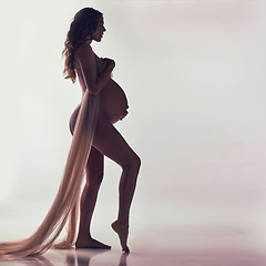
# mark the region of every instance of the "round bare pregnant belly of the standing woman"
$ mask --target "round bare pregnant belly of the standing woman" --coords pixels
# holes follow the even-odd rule
[[[101,92],[101,110],[111,123],[122,119],[129,108],[127,100],[122,88],[113,80],[109,80]]]

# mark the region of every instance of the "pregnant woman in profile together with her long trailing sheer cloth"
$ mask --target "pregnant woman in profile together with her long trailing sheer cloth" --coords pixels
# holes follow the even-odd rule
[[[0,243],[0,260],[38,255],[49,249],[68,225],[68,235],[55,248],[110,248],[94,238],[90,232],[98,192],[103,178],[103,157],[108,156],[122,167],[119,186],[119,214],[112,223],[122,250],[129,253],[127,235],[130,207],[141,165],[139,156],[113,126],[127,114],[127,101],[123,90],[112,80],[115,63],[101,59],[92,50],[92,41],[100,42],[105,31],[103,16],[98,10],[80,10],[70,25],[65,48],[64,74],[82,89],[81,104],[70,119],[73,134],[62,181],[45,218],[27,239]],[[86,183],[80,198],[84,172]],[[78,208],[80,226],[75,235]]]

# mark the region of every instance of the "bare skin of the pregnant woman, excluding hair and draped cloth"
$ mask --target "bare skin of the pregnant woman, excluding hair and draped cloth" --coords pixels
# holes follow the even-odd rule
[[[95,207],[99,188],[103,180],[103,162],[108,156],[122,167],[119,185],[119,214],[112,223],[112,228],[119,235],[122,250],[129,253],[127,235],[130,207],[134,195],[141,160],[130,147],[123,136],[114,127],[114,123],[127,114],[127,100],[123,90],[115,83],[111,75],[115,68],[112,59],[98,58],[91,48],[91,42],[101,42],[105,32],[103,17],[98,20],[95,32],[88,37],[74,54],[74,64],[82,92],[85,90],[93,95],[101,96],[100,113],[95,127],[91,153],[86,163],[86,184],[81,196],[80,226],[75,243],[76,248],[111,248],[91,235],[91,219]],[[98,69],[105,64],[99,74]],[[73,132],[80,105],[70,120]]]

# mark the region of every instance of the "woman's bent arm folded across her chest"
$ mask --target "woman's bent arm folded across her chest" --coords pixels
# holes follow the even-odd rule
[[[82,44],[76,51],[75,57],[86,89],[91,94],[98,95],[108,83],[108,80],[111,78],[111,73],[115,66],[114,61],[111,59],[104,59],[106,60],[106,68],[98,76],[95,54],[93,53],[90,44]]]

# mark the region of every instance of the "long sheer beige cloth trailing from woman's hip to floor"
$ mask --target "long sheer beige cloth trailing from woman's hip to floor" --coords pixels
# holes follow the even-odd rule
[[[90,155],[100,99],[85,92],[75,123],[62,181],[53,204],[35,233],[23,241],[0,243],[0,259],[18,259],[49,249],[69,221],[68,235],[55,248],[71,248],[75,241],[79,201],[84,168]]]

